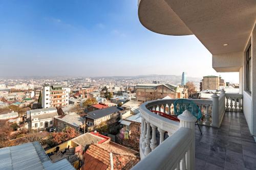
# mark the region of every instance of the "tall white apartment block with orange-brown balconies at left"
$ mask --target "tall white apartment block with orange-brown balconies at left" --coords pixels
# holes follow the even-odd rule
[[[42,108],[69,105],[70,88],[46,84],[42,88]]]

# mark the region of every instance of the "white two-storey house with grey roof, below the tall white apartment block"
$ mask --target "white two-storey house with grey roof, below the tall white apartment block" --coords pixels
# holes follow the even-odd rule
[[[27,111],[29,129],[45,129],[53,126],[53,117],[57,116],[56,108],[34,109]]]

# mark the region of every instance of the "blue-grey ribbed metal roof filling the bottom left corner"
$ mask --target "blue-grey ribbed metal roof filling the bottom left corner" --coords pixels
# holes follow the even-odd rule
[[[52,163],[39,142],[0,149],[0,169],[42,170],[75,169],[67,159]]]

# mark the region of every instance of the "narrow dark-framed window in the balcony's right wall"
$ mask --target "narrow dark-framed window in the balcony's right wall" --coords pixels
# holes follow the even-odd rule
[[[251,92],[251,45],[246,52],[246,90]]]

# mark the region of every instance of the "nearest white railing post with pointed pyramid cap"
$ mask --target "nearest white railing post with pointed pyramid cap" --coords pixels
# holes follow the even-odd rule
[[[189,147],[187,156],[187,169],[195,169],[195,122],[197,118],[193,116],[188,110],[185,110],[182,114],[178,115],[180,119],[180,127],[189,128],[193,133],[193,140]]]

